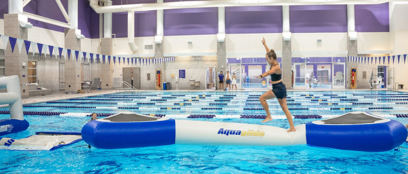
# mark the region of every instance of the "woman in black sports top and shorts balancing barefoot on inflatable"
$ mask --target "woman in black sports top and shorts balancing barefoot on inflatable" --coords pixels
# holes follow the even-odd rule
[[[288,105],[286,103],[286,86],[282,83],[282,70],[278,62],[276,61],[275,51],[273,49],[269,50],[265,42],[265,38],[263,38],[262,44],[265,46],[267,52],[266,61],[271,65],[271,68],[264,74],[255,76],[255,78],[260,78],[262,80],[262,78],[271,75],[273,89],[265,92],[259,97],[259,101],[261,101],[262,107],[266,111],[266,118],[262,122],[272,120],[271,113],[269,112],[269,106],[266,100],[271,98],[278,98],[279,104],[281,105],[282,110],[285,112],[286,118],[288,118],[289,125],[291,126],[288,132],[294,132],[296,131],[296,129],[293,125],[292,114],[291,112],[289,112]]]

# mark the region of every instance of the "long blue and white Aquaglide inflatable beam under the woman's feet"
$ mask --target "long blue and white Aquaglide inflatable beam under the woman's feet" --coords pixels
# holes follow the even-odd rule
[[[186,145],[288,146],[308,144],[341,150],[382,152],[408,136],[398,121],[367,112],[349,112],[295,127],[296,132],[255,124],[174,120],[131,112],[90,121],[85,142],[101,149]]]

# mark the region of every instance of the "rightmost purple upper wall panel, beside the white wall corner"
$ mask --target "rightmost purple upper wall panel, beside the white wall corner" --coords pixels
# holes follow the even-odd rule
[[[390,32],[388,3],[354,5],[357,32]]]

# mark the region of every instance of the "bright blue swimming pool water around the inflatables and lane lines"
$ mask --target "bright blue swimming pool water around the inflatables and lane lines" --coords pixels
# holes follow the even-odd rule
[[[82,113],[118,113],[120,111],[161,114],[165,117],[185,120],[262,124],[289,128],[287,120],[281,119],[284,114],[280,106],[276,105],[278,103],[276,99],[268,101],[271,114],[276,119],[262,123],[260,118],[249,118],[249,116],[265,115],[264,110],[254,110],[262,108],[261,105],[257,105],[259,101],[256,101],[256,97],[261,94],[263,92],[115,93],[98,97],[83,97],[76,100],[59,100],[53,103],[36,103],[31,104],[36,107],[23,107],[24,111],[66,112],[66,114],[65,116],[63,116],[64,114],[53,116],[24,115],[30,123],[30,127],[26,131],[5,137],[24,138],[40,131],[80,132],[82,126],[90,119],[89,116],[83,116]],[[191,99],[185,99],[188,97]],[[403,116],[407,113],[408,103],[404,104],[404,102],[408,102],[405,101],[408,100],[407,93],[390,91],[288,92],[288,100],[294,100],[288,101],[288,104],[292,103],[288,107],[291,108],[293,115],[330,117],[349,111],[368,111],[395,119],[403,124],[408,123],[408,118],[397,117],[397,115]],[[116,104],[112,104],[114,102]],[[184,104],[180,105],[180,103]],[[346,103],[351,103],[351,105]],[[67,108],[68,106],[74,107]],[[79,108],[85,106],[98,108]],[[119,107],[132,107],[132,109]],[[0,111],[4,110],[8,110],[8,108],[0,108]],[[187,118],[191,115],[197,117],[215,115],[215,117]],[[248,116],[248,118],[239,118],[242,115]],[[0,119],[6,118],[9,116],[0,114]],[[295,118],[294,124],[299,125],[314,120],[318,119]],[[55,151],[1,150],[3,158],[0,160],[0,173],[408,173],[407,148],[408,144],[404,143],[397,150],[381,153],[344,151],[307,145],[285,147],[169,145],[103,150],[88,148],[87,144],[81,141]]]

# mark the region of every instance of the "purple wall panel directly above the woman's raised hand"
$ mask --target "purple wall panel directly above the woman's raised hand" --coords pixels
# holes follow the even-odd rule
[[[282,6],[225,7],[225,33],[282,33]]]

